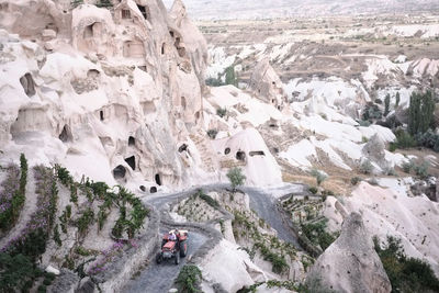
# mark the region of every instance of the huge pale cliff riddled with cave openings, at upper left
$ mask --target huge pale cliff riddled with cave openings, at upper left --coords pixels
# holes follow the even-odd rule
[[[90,3],[2,2],[0,161],[24,153],[109,183],[191,184],[201,162],[178,149],[203,119],[203,36],[181,1],[171,15],[156,0]]]

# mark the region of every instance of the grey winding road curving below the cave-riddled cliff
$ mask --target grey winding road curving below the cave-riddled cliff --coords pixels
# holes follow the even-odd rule
[[[222,191],[224,189],[229,189],[230,185],[226,183],[216,183],[216,184],[206,184],[200,187],[193,187],[184,191],[175,192],[175,193],[162,193],[156,195],[144,196],[142,200],[145,204],[153,205],[155,209],[159,211],[159,214],[166,214],[168,209],[167,204],[177,203],[182,199],[193,194],[199,189],[202,189],[206,192],[210,191]],[[305,188],[301,184],[291,184],[286,187],[281,187],[271,190],[262,190],[258,188],[245,187],[240,189],[246,192],[250,198],[250,207],[258,213],[258,216],[263,218],[271,227],[273,227],[278,232],[278,236],[280,239],[293,244],[295,247],[301,249],[296,236],[293,230],[289,227],[289,225],[282,219],[280,212],[278,211],[275,201],[277,196],[284,195],[289,193],[302,193]],[[272,194],[275,193],[277,196]],[[166,221],[165,221],[166,222]],[[166,226],[169,226],[169,223],[165,223],[164,218],[161,218],[160,232],[166,232]],[[182,224],[179,224],[182,225]],[[190,224],[188,224],[190,225]],[[209,224],[200,225],[204,226],[206,229],[214,229]],[[203,235],[202,232],[191,232],[189,235],[189,256],[187,258],[181,259],[179,266],[176,266],[173,261],[168,261],[161,264],[156,264],[154,259],[151,259],[151,263],[149,263],[148,268],[146,268],[139,277],[135,280],[131,281],[125,288],[125,292],[147,292],[147,293],[159,293],[159,292],[168,292],[171,289],[173,280],[178,277],[180,269],[187,263],[188,259],[191,256],[198,252],[198,250],[202,250],[203,245],[209,241],[209,236]],[[205,248],[204,248],[205,249]]]

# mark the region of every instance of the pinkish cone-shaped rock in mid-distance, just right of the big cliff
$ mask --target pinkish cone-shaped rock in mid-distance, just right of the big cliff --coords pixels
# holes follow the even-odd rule
[[[273,104],[278,110],[283,109],[286,94],[282,81],[271,67],[268,58],[260,60],[250,78],[250,89],[255,95],[267,103]]]

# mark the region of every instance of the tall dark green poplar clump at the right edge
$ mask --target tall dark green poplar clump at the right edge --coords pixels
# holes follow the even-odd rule
[[[434,123],[435,101],[431,91],[412,93],[408,108],[408,132],[412,135],[425,133]]]

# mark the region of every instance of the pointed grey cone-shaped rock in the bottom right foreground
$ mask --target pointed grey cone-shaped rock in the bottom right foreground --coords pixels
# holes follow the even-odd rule
[[[341,235],[317,259],[306,284],[319,292],[391,292],[383,264],[373,249],[360,214],[351,213],[342,225]]]

